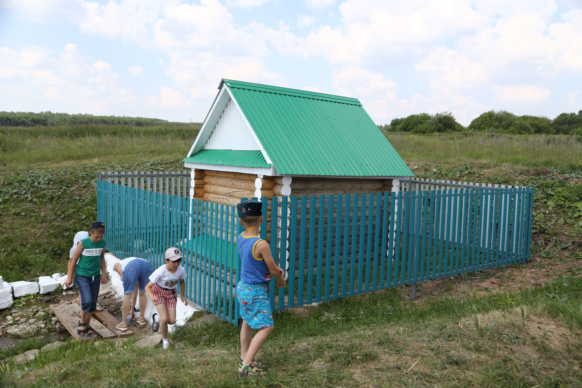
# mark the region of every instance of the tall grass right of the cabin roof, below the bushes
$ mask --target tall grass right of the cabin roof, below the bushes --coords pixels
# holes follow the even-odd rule
[[[491,133],[385,135],[405,160],[498,162],[558,169],[575,169],[582,165],[582,136]]]

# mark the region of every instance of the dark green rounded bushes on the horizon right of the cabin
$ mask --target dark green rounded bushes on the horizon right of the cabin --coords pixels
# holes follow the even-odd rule
[[[578,113],[560,113],[555,119],[514,115],[508,111],[489,111],[473,119],[464,127],[450,112],[417,113],[406,118],[392,119],[390,124],[378,125],[387,132],[443,133],[478,131],[508,134],[582,134],[582,110]]]

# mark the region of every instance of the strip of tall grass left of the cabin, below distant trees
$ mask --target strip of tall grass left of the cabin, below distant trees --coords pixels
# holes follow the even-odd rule
[[[198,127],[99,126],[0,127],[0,163],[38,166],[107,158],[130,160],[136,156],[186,156]]]

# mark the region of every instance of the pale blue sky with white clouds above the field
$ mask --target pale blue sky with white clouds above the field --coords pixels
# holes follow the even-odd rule
[[[0,111],[202,122],[221,79],[377,124],[582,109],[582,0],[0,0]]]

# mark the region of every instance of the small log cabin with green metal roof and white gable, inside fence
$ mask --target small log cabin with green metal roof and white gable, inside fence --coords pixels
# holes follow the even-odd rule
[[[221,81],[218,90],[184,159],[184,166],[191,169],[191,198],[236,205],[241,198],[252,197],[269,200],[274,196],[294,195],[359,194],[361,197],[361,194],[398,191],[399,180],[413,176],[355,98],[226,79]],[[307,197],[304,202],[307,218],[318,214],[319,198],[315,201],[315,212],[311,212],[311,198]],[[300,216],[300,200],[298,206]],[[372,230],[375,223],[382,222],[374,216],[375,209],[372,215],[367,208],[361,211],[366,213],[367,222],[373,223]],[[281,215],[281,209],[278,214]],[[327,217],[326,213],[325,220],[317,225],[327,229]],[[336,222],[333,218],[330,225],[335,227]],[[354,223],[356,228],[352,227]],[[286,252],[281,255],[285,264],[280,265],[297,276],[299,258],[304,261],[315,258],[308,255],[308,243],[301,246],[300,223],[297,222],[294,241],[290,241],[292,223],[287,225]],[[352,239],[353,230],[359,233],[359,228],[358,215],[353,215],[346,230],[342,221],[341,232],[348,234],[346,241],[350,247],[354,241],[356,252],[361,254],[360,238]],[[364,234],[367,230],[361,228]],[[307,223],[304,233],[309,232],[310,223]],[[270,233],[267,240],[277,244],[279,254],[280,225],[276,240]],[[335,240],[331,243],[335,245]],[[317,244],[328,242],[317,241],[316,237],[312,244],[317,252]],[[296,268],[289,268],[292,245],[297,256]],[[324,260],[327,260],[326,251],[322,252]],[[357,255],[348,256],[329,260],[333,264],[340,259],[343,265],[352,259],[359,260]]]

